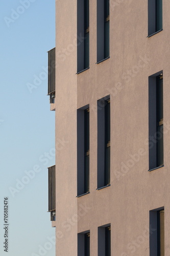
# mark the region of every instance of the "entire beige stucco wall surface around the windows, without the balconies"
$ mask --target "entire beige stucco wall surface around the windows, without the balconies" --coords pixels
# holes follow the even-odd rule
[[[110,58],[95,64],[96,0],[90,0],[90,69],[76,75],[77,1],[56,1],[56,145],[58,139],[65,141],[56,150],[56,234],[62,232],[62,238],[57,238],[56,255],[77,255],[77,233],[90,229],[90,255],[97,256],[98,226],[111,223],[112,256],[149,256],[149,210],[164,206],[168,256],[170,2],[163,1],[163,31],[150,38],[147,38],[147,1],[110,2]],[[64,48],[66,55],[61,57]],[[148,172],[148,76],[161,70],[167,129],[164,167]],[[111,186],[96,190],[96,101],[109,94]],[[77,109],[87,104],[90,105],[90,194],[76,198],[76,117]]]

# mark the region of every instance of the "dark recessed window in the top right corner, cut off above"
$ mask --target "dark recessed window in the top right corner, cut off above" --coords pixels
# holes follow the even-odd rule
[[[148,0],[148,35],[162,30],[162,0]]]

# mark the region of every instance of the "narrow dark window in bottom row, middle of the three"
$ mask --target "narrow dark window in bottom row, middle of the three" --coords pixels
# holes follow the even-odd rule
[[[98,256],[111,256],[110,224],[98,227]]]

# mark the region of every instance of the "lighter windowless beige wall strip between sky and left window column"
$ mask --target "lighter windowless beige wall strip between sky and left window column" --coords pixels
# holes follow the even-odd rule
[[[57,256],[77,255],[76,14],[76,1],[56,1]]]

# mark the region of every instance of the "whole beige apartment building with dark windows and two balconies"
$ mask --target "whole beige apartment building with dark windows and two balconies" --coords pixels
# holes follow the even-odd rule
[[[170,255],[170,2],[56,1],[56,256]]]

